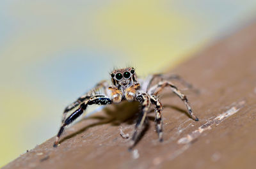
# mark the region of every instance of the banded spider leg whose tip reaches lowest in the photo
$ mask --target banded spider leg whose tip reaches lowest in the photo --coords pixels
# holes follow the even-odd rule
[[[134,145],[138,142],[138,138],[140,138],[141,132],[143,131],[143,124],[147,117],[148,109],[150,107],[150,98],[148,94],[139,94],[138,96],[136,96],[136,100],[141,103],[141,114],[138,121],[136,122],[134,133],[132,134],[131,147],[129,149],[132,149],[132,147],[134,147]]]

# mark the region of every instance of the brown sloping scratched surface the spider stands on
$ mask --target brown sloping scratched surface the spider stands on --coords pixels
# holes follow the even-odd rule
[[[214,44],[170,70],[200,90],[182,90],[200,121],[165,90],[163,143],[150,113],[147,132],[127,151],[119,129],[132,133],[138,107],[123,103],[68,128],[58,148],[50,138],[3,168],[256,168],[256,24]]]

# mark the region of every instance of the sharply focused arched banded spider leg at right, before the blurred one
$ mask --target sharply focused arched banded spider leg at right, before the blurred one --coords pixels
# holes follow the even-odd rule
[[[185,96],[184,94],[182,94],[179,89],[173,85],[171,82],[159,82],[159,84],[154,85],[153,87],[151,87],[148,91],[148,93],[150,95],[157,95],[157,93],[161,92],[164,87],[170,86],[171,90],[177,94],[177,96],[179,96],[179,98],[184,102],[184,104],[186,105],[187,109],[188,109],[188,113],[189,115],[192,117],[192,119],[194,119],[195,121],[199,121],[199,119],[194,115],[189,102],[188,102],[188,98],[187,96]]]

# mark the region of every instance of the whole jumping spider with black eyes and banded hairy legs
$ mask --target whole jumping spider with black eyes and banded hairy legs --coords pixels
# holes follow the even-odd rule
[[[119,70],[114,70],[110,73],[111,75],[111,82],[112,85],[109,87],[108,82],[102,81],[99,84],[95,86],[95,88],[92,89],[99,89],[102,88],[104,91],[104,94],[92,94],[92,91],[87,92],[80,98],[78,98],[74,103],[68,105],[68,107],[65,108],[63,112],[62,117],[62,125],[60,128],[60,131],[58,132],[58,135],[56,136],[56,141],[54,142],[54,147],[58,146],[59,139],[61,134],[64,131],[65,126],[72,123],[74,120],[77,119],[81,114],[83,114],[84,110],[86,110],[86,107],[88,105],[109,105],[111,103],[120,103],[122,100],[127,101],[138,101],[141,104],[141,114],[140,117],[136,123],[134,132],[132,134],[132,142],[131,147],[135,145],[135,143],[138,141],[138,138],[141,134],[141,128],[143,126],[143,123],[145,122],[145,119],[147,117],[148,110],[150,108],[150,105],[155,105],[155,112],[156,112],[156,131],[158,133],[159,141],[163,141],[163,129],[162,129],[162,118],[161,118],[161,112],[163,110],[163,107],[161,105],[161,102],[159,101],[159,98],[157,98],[157,94],[164,89],[164,87],[170,87],[172,92],[177,94],[179,98],[184,102],[186,107],[188,108],[188,113],[194,119],[195,121],[198,121],[198,118],[193,114],[191,107],[189,106],[187,97],[182,94],[175,85],[173,85],[171,82],[168,82],[166,80],[170,79],[177,79],[183,82],[188,87],[191,87],[190,84],[186,83],[184,80],[182,80],[178,76],[170,76],[170,77],[164,77],[162,74],[157,75],[151,75],[147,78],[147,80],[137,80],[137,76],[135,73],[134,68],[124,68]],[[155,78],[161,78],[161,81],[150,87],[153,80]],[[139,82],[141,81],[141,82]],[[78,107],[79,106],[79,107]],[[67,118],[67,112],[70,110],[77,108],[76,111],[74,111],[71,115],[69,115]]]

